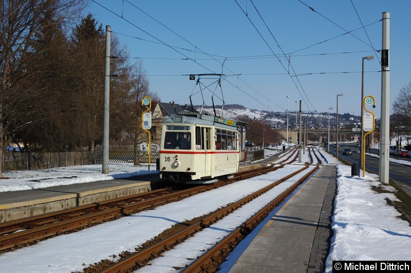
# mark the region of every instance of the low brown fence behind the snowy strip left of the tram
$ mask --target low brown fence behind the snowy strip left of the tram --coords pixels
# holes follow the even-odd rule
[[[109,149],[110,163],[134,163],[134,151]],[[139,151],[139,162],[148,163],[147,151]],[[150,163],[156,163],[159,152],[151,152]],[[102,150],[71,152],[4,152],[3,170],[36,170],[65,166],[102,164]]]

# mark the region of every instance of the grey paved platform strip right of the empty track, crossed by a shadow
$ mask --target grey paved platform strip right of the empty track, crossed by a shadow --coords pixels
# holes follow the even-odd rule
[[[275,211],[229,270],[323,272],[337,172],[322,166]]]

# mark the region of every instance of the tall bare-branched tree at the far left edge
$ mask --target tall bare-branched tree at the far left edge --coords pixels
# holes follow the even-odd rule
[[[40,52],[32,41],[41,31],[44,18],[52,16],[56,22],[68,22],[80,11],[82,0],[0,0],[0,150],[14,138],[19,124],[16,113],[21,113],[23,101],[35,100],[39,82],[25,81],[32,73],[27,63]],[[46,15],[47,13],[47,15]],[[23,111],[31,111],[30,108]],[[21,119],[23,121],[23,119]],[[2,154],[0,178],[3,178]]]

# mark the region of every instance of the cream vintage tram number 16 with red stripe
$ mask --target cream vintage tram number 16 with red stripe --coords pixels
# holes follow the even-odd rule
[[[212,183],[238,171],[240,133],[236,122],[180,112],[162,124],[160,178],[184,183]]]

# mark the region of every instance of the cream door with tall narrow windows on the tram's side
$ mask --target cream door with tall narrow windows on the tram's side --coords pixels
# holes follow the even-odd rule
[[[196,126],[196,150],[201,150],[196,165],[203,172],[201,177],[211,176],[211,128]]]

